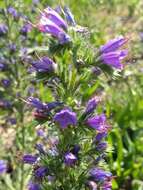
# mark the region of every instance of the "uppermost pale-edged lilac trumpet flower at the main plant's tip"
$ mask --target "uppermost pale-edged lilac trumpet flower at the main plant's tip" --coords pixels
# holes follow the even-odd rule
[[[46,9],[44,9],[42,15],[45,16],[50,21],[52,21],[58,27],[62,27],[64,29],[67,29],[66,22],[63,20],[63,18],[54,9],[47,7]]]

